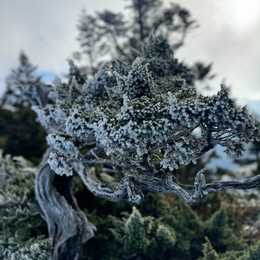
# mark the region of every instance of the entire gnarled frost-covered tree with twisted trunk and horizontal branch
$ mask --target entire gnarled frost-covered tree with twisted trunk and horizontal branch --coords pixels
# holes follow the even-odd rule
[[[70,61],[67,83],[24,86],[49,134],[35,191],[53,241],[52,259],[79,259],[95,231],[71,193],[75,175],[95,196],[137,204],[143,190],[177,194],[192,204],[207,193],[260,185],[259,176],[206,184],[205,169],[193,186],[174,176],[217,144],[239,159],[244,143],[260,137],[260,122],[238,109],[223,85],[203,96],[193,81],[166,39],[151,36],[132,66],[112,59],[86,79]],[[101,180],[98,165],[111,183]]]

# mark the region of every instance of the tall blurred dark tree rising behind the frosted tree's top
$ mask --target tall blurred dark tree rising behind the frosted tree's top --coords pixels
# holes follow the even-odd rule
[[[189,11],[177,4],[166,6],[160,0],[131,0],[127,4],[127,14],[104,10],[90,15],[82,11],[77,25],[81,50],[74,56],[88,61],[89,75],[94,75],[99,62],[109,56],[132,62],[141,54],[151,31],[163,34],[176,50],[187,32],[197,26]]]

